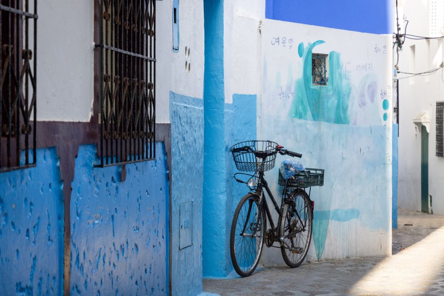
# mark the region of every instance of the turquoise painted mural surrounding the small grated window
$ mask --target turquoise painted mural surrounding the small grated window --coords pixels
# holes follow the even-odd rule
[[[313,48],[325,41],[318,40],[304,47],[298,45],[299,57],[304,61],[302,77],[296,80],[295,95],[290,110],[293,118],[349,124],[349,99],[352,91],[350,81],[341,66],[340,54],[331,51],[327,85],[312,85],[311,56]]]

